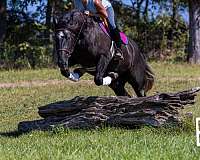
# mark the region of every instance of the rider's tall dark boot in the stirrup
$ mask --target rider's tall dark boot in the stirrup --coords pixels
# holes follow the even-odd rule
[[[121,41],[120,32],[119,32],[118,28],[115,28],[112,30],[112,36],[113,36],[113,40],[116,44],[115,59],[124,60],[123,52],[121,49],[122,41]]]

